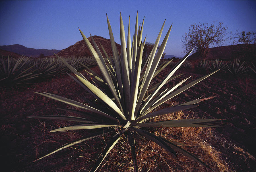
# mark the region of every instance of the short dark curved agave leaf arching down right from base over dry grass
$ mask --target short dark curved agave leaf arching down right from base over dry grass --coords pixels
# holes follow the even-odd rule
[[[167,152],[173,154],[174,156],[177,156],[176,152],[168,144],[166,144],[166,142],[164,142],[160,137],[158,137],[158,136],[156,136],[156,135],[154,135],[154,134],[152,134],[148,131],[138,129],[136,127],[129,127],[129,129],[138,132],[139,134],[141,134],[145,138],[155,142],[156,144],[158,144],[159,146],[164,148]]]

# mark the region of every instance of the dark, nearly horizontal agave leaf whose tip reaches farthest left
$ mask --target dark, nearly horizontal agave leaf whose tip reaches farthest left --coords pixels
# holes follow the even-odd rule
[[[65,115],[44,115],[44,116],[29,116],[27,118],[35,118],[35,119],[59,119],[65,121],[75,121],[81,123],[96,123],[95,121],[89,121],[89,119],[74,117],[74,116],[65,116]]]

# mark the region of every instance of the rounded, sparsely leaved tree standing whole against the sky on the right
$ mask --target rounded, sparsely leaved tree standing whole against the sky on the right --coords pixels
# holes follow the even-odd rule
[[[217,22],[217,21],[215,21]],[[194,48],[194,51],[199,52],[202,59],[207,57],[207,49],[213,45],[222,45],[227,39],[225,36],[227,27],[222,26],[222,22],[218,24],[199,23],[191,24],[189,32],[182,36],[182,47],[185,49],[185,53]]]

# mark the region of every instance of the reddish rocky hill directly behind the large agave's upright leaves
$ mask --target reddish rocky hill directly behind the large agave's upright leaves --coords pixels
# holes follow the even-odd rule
[[[104,52],[103,52],[100,44],[105,49],[105,51],[107,52],[108,55],[113,55],[112,54],[111,43],[110,43],[109,39],[103,38],[101,36],[96,36],[96,35],[92,36],[92,38],[94,39],[94,41],[98,45],[98,47],[99,47],[103,56],[104,56]],[[88,37],[88,40],[90,41],[90,43],[94,47],[94,44],[92,42],[92,38]],[[117,49],[118,49],[119,53],[121,53],[121,45],[119,45],[118,43],[115,43],[115,44],[117,46]],[[67,47],[66,49],[61,50],[59,53],[57,53],[57,55],[62,56],[62,57],[67,57],[67,56],[71,56],[71,55],[92,56],[92,54],[90,53],[90,51],[89,51],[87,45],[85,44],[84,40],[81,40],[81,41],[75,43],[74,45],[71,45],[71,46]]]

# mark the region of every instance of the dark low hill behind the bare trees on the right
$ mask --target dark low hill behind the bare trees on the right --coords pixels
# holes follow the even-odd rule
[[[252,45],[254,47],[254,52],[256,52],[256,45]],[[235,59],[239,57],[243,57],[245,45],[226,45],[220,47],[213,47],[208,49],[207,59]],[[190,60],[201,59],[201,56],[198,52],[193,53],[188,57]]]

